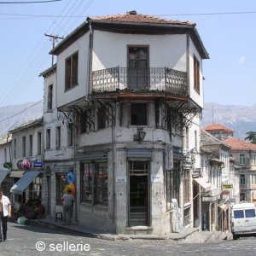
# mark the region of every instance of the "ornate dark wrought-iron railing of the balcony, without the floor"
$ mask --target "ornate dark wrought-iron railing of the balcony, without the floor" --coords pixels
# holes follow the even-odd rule
[[[162,91],[186,96],[187,73],[167,67],[112,67],[92,73],[92,93],[117,90]]]

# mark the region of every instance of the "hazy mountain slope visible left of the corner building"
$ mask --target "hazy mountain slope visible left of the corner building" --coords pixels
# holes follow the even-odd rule
[[[43,113],[43,101],[0,107],[0,136],[30,120],[41,118]]]

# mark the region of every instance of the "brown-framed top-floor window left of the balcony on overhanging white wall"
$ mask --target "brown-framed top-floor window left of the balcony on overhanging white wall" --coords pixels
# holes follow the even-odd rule
[[[66,60],[65,90],[69,90],[78,84],[79,53],[75,53]]]

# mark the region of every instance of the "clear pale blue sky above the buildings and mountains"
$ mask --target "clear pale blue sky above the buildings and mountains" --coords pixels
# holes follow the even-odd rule
[[[196,23],[210,55],[210,59],[204,60],[202,65],[204,102],[245,106],[256,104],[256,1],[5,2],[9,3],[0,0],[0,107],[43,100],[44,79],[39,74],[51,67],[52,61],[49,55],[52,42],[45,33],[66,37],[88,16],[125,14],[130,10]]]

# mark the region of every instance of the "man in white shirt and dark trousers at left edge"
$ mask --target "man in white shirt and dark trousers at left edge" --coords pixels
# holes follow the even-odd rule
[[[0,189],[0,216],[3,228],[3,241],[6,241],[7,220],[11,217],[11,204],[9,198],[3,195],[3,189]],[[2,241],[2,232],[0,232],[0,241]]]

